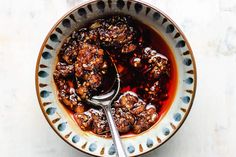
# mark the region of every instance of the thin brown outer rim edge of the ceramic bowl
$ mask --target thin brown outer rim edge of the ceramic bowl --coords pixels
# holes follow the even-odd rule
[[[93,155],[93,156],[97,156],[97,155],[94,155],[92,153],[88,153],[86,152],[85,150],[83,149],[79,149],[78,147],[72,145],[69,141],[67,141],[62,135],[60,135],[58,133],[58,131],[56,130],[56,128],[53,127],[53,124],[52,122],[49,120],[48,116],[46,115],[46,112],[44,110],[44,106],[43,106],[43,103],[41,101],[41,98],[40,98],[40,93],[39,93],[39,86],[38,86],[38,70],[39,70],[39,63],[40,63],[40,59],[41,59],[41,56],[42,56],[42,53],[43,53],[43,49],[51,35],[51,33],[55,30],[55,28],[62,22],[62,20],[67,17],[70,13],[74,12],[76,9],[80,8],[80,7],[84,7],[90,3],[94,3],[96,2],[97,0],[87,0],[85,2],[81,2],[79,4],[76,4],[74,7],[72,7],[70,10],[68,10],[65,14],[63,14],[62,17],[60,17],[57,22],[51,27],[50,31],[47,33],[46,37],[44,38],[44,41],[41,45],[41,48],[40,48],[40,51],[39,51],[39,54],[38,54],[38,57],[37,57],[37,61],[36,61],[36,68],[35,68],[35,87],[36,87],[36,95],[37,95],[37,99],[38,99],[38,102],[39,102],[39,106],[40,106],[40,109],[44,115],[44,117],[46,118],[48,124],[50,125],[50,127],[54,130],[54,132],[64,141],[66,142],[67,144],[69,144],[70,146],[72,146],[73,148],[75,148],[76,150],[79,150],[85,154],[88,154],[88,155]],[[106,1],[106,0],[105,0]],[[124,1],[129,1],[129,0],[124,0]],[[181,128],[181,126],[183,125],[183,123],[185,122],[186,118],[188,117],[189,113],[190,113],[190,110],[192,109],[192,106],[193,106],[193,102],[194,102],[194,99],[195,99],[195,94],[196,94],[196,90],[197,90],[197,68],[196,68],[196,62],[195,62],[195,58],[194,58],[194,55],[193,55],[193,51],[192,51],[192,48],[190,46],[190,43],[189,41],[187,40],[186,36],[184,35],[183,31],[180,29],[180,27],[174,22],[174,20],[172,20],[172,18],[170,18],[165,12],[163,12],[161,9],[157,8],[156,6],[148,3],[148,2],[145,2],[143,0],[132,0],[133,2],[135,3],[141,3],[145,6],[148,6],[156,11],[158,11],[160,14],[162,14],[165,18],[167,18],[174,26],[175,28],[178,30],[178,32],[181,34],[181,36],[183,37],[187,47],[188,47],[188,50],[189,50],[189,54],[191,56],[191,59],[192,59],[192,64],[193,64],[193,76],[194,76],[194,82],[193,82],[193,93],[192,93],[192,98],[190,100],[190,103],[189,103],[189,107],[188,107],[188,110],[186,111],[186,113],[184,114],[182,120],[180,121],[179,125],[176,126],[176,129],[173,130],[172,134],[170,136],[168,136],[165,141],[163,141],[162,143],[160,143],[159,145],[157,145],[156,147],[153,147],[151,149],[149,149],[148,151],[146,152],[141,152],[138,156],[141,156],[141,155],[144,155],[144,154],[147,154],[147,153],[150,153],[152,152],[153,150],[161,147],[163,144],[165,144],[167,141],[169,141],[171,139],[172,136],[174,136],[176,134],[176,132]],[[99,156],[98,156],[99,157]]]

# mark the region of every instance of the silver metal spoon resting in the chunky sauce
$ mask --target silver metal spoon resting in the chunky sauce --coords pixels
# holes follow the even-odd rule
[[[103,108],[110,127],[112,139],[117,150],[117,155],[118,157],[126,157],[127,155],[121,143],[120,135],[116,128],[116,124],[114,122],[111,113],[111,104],[120,91],[120,76],[118,74],[115,64],[112,63],[112,65],[114,66],[113,70],[115,70],[116,72],[116,80],[115,83],[113,84],[113,87],[114,85],[116,85],[116,88],[111,88],[111,90],[106,92],[105,94],[93,96],[92,98],[87,99],[87,102],[89,102],[92,105],[101,106]]]

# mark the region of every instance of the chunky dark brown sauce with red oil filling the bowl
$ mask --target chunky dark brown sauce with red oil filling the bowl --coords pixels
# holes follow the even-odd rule
[[[122,135],[139,134],[168,110],[177,79],[170,48],[158,33],[130,16],[94,20],[64,41],[54,71],[58,99],[82,130],[111,136],[103,110],[86,103],[112,85],[108,57],[121,78],[112,106],[117,129]]]

